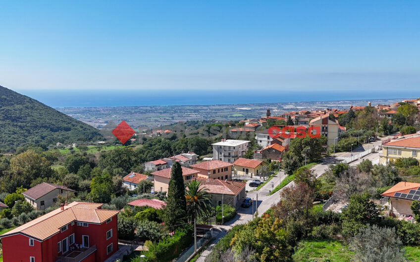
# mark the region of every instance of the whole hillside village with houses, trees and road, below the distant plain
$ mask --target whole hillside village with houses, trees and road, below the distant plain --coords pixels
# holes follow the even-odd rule
[[[362,252],[357,241],[373,234],[392,238],[389,258],[412,260],[420,253],[419,109],[420,99],[277,116],[267,109],[262,118],[215,121],[214,137],[156,130],[95,154],[83,144],[68,153],[58,143],[26,145],[0,157],[2,258],[350,261]],[[339,248],[306,250],[319,242]]]

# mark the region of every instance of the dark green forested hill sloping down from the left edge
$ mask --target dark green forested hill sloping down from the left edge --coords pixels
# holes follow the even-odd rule
[[[48,145],[102,138],[96,128],[0,86],[1,152],[9,152],[26,144],[45,142]]]

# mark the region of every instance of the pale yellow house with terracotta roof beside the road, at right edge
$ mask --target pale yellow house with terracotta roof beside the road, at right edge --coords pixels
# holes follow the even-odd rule
[[[379,163],[386,164],[398,158],[413,157],[420,161],[420,134],[410,134],[382,145]]]

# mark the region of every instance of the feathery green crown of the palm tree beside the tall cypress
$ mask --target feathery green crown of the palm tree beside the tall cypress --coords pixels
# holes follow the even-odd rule
[[[201,181],[192,180],[186,184],[185,199],[187,200],[187,214],[194,221],[195,218],[205,218],[210,215],[211,194],[206,187],[201,187]]]

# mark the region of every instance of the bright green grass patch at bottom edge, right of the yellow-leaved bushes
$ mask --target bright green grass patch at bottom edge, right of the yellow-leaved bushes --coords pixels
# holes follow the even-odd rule
[[[293,261],[350,261],[354,256],[347,246],[333,239],[305,239],[298,243]]]

